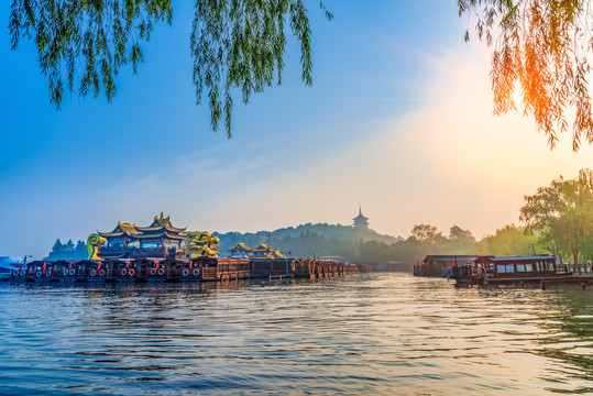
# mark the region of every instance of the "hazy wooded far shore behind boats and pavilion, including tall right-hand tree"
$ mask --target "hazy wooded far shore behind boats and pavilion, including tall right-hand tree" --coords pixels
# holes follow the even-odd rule
[[[560,176],[548,187],[525,196],[520,224],[507,224],[476,240],[469,230],[452,226],[446,235],[436,226],[416,224],[406,239],[340,224],[301,224],[255,233],[213,233],[221,253],[243,242],[290,252],[292,257],[341,256],[364,264],[399,262],[411,267],[428,254],[531,255],[558,254],[562,262],[593,260],[593,170],[574,179]],[[84,260],[86,244],[57,240],[46,260]]]

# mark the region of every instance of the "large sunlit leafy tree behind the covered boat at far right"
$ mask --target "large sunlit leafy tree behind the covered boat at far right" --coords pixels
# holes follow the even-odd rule
[[[520,220],[526,231],[553,241],[562,252],[579,262],[579,254],[591,256],[593,244],[593,170],[581,169],[575,179],[562,176],[549,187],[525,197]]]

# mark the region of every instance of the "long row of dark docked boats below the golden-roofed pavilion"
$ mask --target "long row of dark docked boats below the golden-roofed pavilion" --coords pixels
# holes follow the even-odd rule
[[[308,258],[273,260],[205,256],[34,261],[11,272],[13,282],[174,282],[288,276],[321,278],[358,273],[356,264]]]

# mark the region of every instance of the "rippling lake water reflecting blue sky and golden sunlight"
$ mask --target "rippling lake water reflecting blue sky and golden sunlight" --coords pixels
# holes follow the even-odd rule
[[[593,394],[593,288],[0,284],[2,395]]]

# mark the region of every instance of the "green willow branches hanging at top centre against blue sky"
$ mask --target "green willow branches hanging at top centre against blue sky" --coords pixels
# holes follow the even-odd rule
[[[325,9],[326,16],[332,15]],[[208,89],[212,129],[224,112],[231,133],[232,89],[241,89],[243,102],[274,81],[282,84],[285,23],[300,42],[303,80],[311,80],[311,37],[303,0],[198,0],[191,29],[196,100]]]

